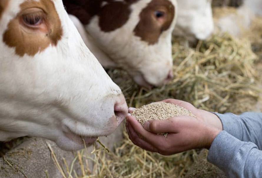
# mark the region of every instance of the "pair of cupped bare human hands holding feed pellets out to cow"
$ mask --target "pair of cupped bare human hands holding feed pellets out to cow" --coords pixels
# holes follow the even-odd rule
[[[190,149],[209,148],[222,131],[220,119],[213,113],[196,109],[193,105],[175,99],[162,102],[177,104],[190,110],[197,118],[173,117],[167,120],[151,120],[144,127],[133,116],[127,117],[127,132],[137,146],[163,155],[176,154]],[[132,108],[130,112],[132,112]],[[168,133],[167,138],[159,133]]]

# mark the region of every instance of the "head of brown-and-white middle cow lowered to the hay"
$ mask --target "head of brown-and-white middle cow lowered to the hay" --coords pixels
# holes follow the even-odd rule
[[[138,84],[146,87],[160,86],[173,78],[171,37],[176,0],[63,2],[67,12],[84,25],[87,32],[72,17],[87,46],[104,67],[125,69]],[[105,54],[101,55],[99,49]]]

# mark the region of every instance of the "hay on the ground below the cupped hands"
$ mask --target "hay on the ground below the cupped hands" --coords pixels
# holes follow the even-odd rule
[[[52,148],[52,158],[64,178],[175,178],[186,174],[198,155],[195,150],[165,157],[157,153],[147,152],[135,146],[129,139],[127,132],[124,132],[124,139],[115,149],[115,152],[107,152],[95,146],[93,157],[77,152],[76,158],[71,164],[78,164],[80,175],[73,174],[69,170],[66,161],[59,164],[55,158]],[[98,149],[98,150],[97,150]],[[94,168],[89,170],[89,164]]]

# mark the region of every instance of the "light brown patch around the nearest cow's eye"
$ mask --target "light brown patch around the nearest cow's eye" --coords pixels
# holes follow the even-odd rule
[[[61,21],[51,0],[25,1],[21,11],[8,24],[3,41],[16,54],[34,56],[62,37]]]

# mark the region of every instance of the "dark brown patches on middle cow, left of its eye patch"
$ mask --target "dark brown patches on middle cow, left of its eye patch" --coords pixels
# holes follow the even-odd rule
[[[131,14],[130,5],[140,0],[63,0],[67,12],[76,16],[84,25],[92,17],[99,17],[100,29],[104,32],[114,31],[123,26]],[[103,5],[102,3],[106,3]]]

